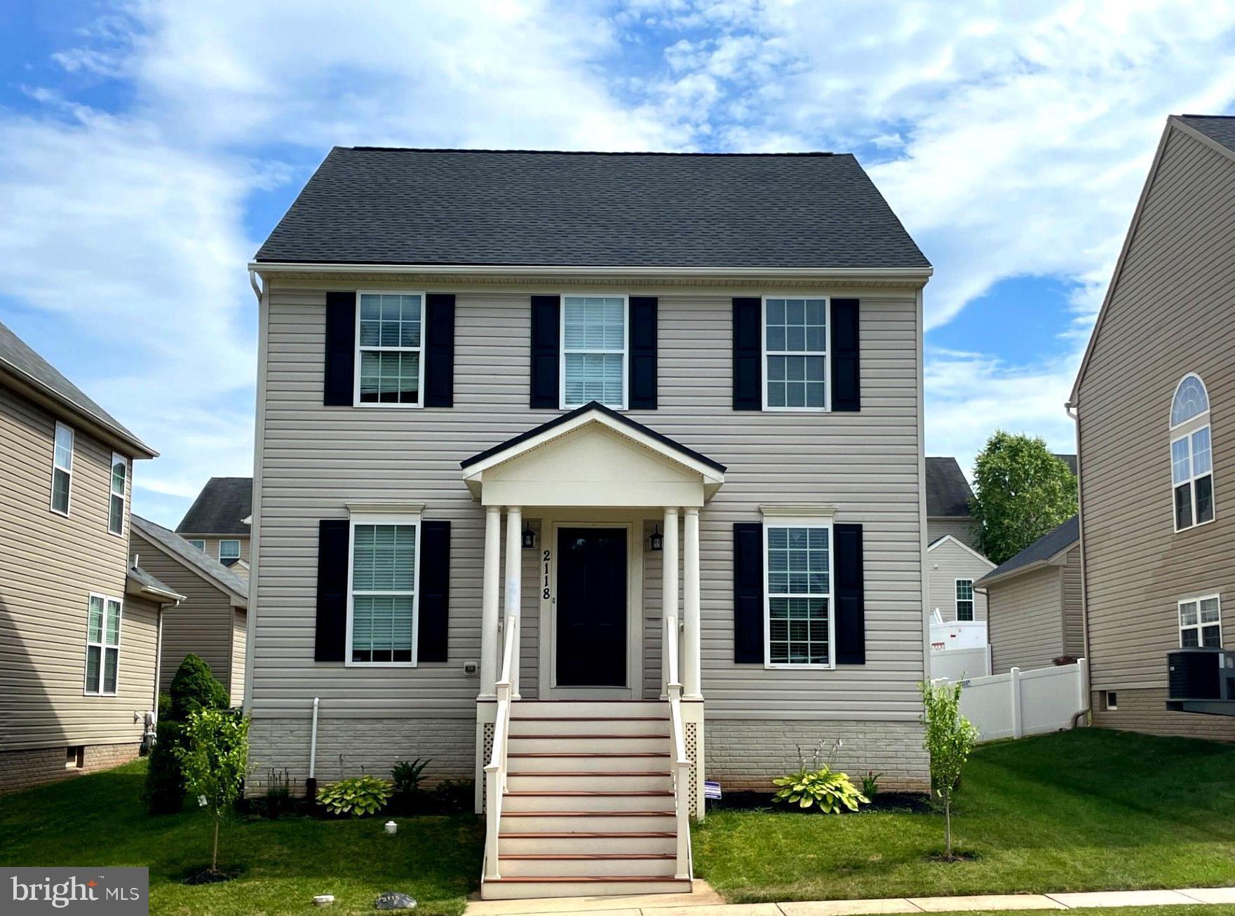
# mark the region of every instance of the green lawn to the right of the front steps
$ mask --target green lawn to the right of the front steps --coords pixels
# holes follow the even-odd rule
[[[1233,885],[1235,747],[1097,728],[988,744],[952,825],[976,860],[926,859],[939,814],[722,810],[694,831],[695,874],[731,902]]]

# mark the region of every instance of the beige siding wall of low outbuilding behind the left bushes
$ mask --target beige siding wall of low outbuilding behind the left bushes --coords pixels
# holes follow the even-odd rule
[[[200,657],[224,686],[232,672],[232,604],[227,593],[173,559],[137,531],[133,553],[146,572],[184,600],[163,618],[163,664],[159,689],[167,690],[177,669],[190,652]],[[238,697],[232,695],[232,700]]]

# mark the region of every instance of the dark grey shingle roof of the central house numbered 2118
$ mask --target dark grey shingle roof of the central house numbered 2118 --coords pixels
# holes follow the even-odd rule
[[[258,262],[923,268],[853,156],[335,147]]]

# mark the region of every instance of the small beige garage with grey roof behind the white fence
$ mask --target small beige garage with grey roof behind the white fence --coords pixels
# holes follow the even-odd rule
[[[1084,654],[1078,532],[1072,516],[974,583],[987,596],[992,674]]]

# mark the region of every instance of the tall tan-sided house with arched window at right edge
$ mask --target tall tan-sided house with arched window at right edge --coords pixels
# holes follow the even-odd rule
[[[1172,116],[1070,401],[1099,726],[1235,739],[1166,709],[1170,651],[1235,647],[1233,249],[1235,119]]]

